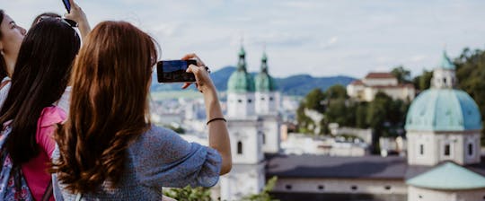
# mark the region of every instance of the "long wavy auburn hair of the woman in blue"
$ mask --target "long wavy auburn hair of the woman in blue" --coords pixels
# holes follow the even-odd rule
[[[60,182],[73,193],[116,188],[130,141],[149,127],[154,40],[128,22],[101,22],[75,61],[70,115],[57,129]]]

